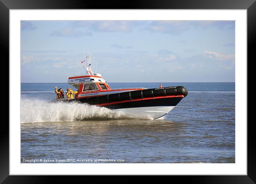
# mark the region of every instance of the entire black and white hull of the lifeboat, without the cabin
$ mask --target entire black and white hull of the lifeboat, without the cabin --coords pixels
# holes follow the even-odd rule
[[[55,99],[52,102],[79,102],[123,111],[133,117],[157,119],[171,111],[188,91],[183,86],[136,90],[77,99]]]

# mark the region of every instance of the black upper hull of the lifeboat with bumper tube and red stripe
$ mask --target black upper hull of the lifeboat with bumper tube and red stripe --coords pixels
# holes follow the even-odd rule
[[[63,102],[80,102],[91,105],[100,105],[109,109],[154,107],[154,106],[176,106],[188,91],[183,86],[154,88],[147,90],[135,90],[122,93],[113,93],[95,97],[83,97],[78,99],[61,100]],[[164,97],[164,96],[167,96]],[[177,96],[178,95],[178,96]],[[170,97],[172,96],[172,97]],[[155,98],[154,98],[155,97]],[[135,100],[141,99],[141,100]],[[60,99],[59,99],[60,100]],[[53,100],[51,102],[60,102]],[[109,104],[112,103],[112,104]]]

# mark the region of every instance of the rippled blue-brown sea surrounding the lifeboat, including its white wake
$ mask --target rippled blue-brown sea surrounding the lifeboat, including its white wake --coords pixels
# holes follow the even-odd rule
[[[75,90],[68,83],[21,83],[21,163],[235,163],[234,82],[162,83],[184,86],[188,95],[156,120],[48,103],[56,98],[55,86]]]

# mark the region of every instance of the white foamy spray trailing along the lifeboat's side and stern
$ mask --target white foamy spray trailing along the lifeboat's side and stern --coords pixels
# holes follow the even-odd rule
[[[21,123],[86,121],[110,119],[152,119],[135,117],[121,111],[112,111],[104,107],[85,103],[50,103],[39,99],[21,99]]]

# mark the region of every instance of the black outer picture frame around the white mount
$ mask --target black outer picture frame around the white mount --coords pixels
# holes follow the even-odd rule
[[[99,3],[100,2],[100,3]],[[247,10],[247,63],[253,57],[256,38],[256,1],[255,0],[130,0],[88,1],[88,0],[0,0],[0,44],[2,57],[9,61],[9,10],[10,9],[246,9]],[[249,77],[248,77],[249,79]],[[248,82],[247,82],[248,84]],[[9,84],[10,85],[10,84]],[[246,99],[247,101],[247,99]],[[10,102],[10,99],[9,99]],[[7,108],[6,108],[7,109]],[[10,114],[10,112],[9,112]],[[243,122],[247,123],[247,122]],[[172,176],[189,183],[255,183],[255,128],[253,121],[247,123],[247,175],[197,175]],[[1,129],[0,182],[3,183],[51,183],[50,176],[9,175],[9,126],[2,124]],[[58,183],[67,176],[58,178]],[[86,176],[85,176],[86,177]],[[151,177],[150,177],[151,178]],[[129,179],[124,180],[128,182]],[[130,181],[129,183],[131,183]]]

